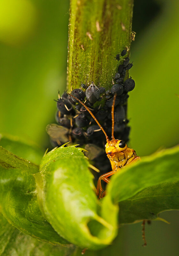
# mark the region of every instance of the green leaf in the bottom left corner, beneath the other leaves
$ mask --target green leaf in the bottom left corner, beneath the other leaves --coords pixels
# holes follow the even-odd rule
[[[40,242],[21,233],[0,214],[0,256],[67,256],[75,247]]]

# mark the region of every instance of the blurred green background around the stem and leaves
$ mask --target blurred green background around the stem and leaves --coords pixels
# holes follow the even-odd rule
[[[0,6],[0,132],[45,150],[45,127],[55,121],[53,99],[66,87],[69,1],[0,0]],[[130,146],[144,156],[179,143],[179,2],[134,1],[132,29]],[[114,245],[92,254],[179,255],[179,212],[161,217],[171,224],[147,226],[147,247],[141,246],[138,223],[121,228]]]

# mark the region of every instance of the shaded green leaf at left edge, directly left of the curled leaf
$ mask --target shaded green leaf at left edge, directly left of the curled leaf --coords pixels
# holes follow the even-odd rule
[[[22,232],[51,243],[67,243],[42,216],[34,173],[39,166],[0,147],[0,208]]]

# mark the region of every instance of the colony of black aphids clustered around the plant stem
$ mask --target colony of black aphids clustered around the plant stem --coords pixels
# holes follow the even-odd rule
[[[126,79],[126,70],[132,67],[128,56],[125,59],[120,59],[120,56],[127,54],[123,50],[116,55],[116,60],[120,61],[117,67],[117,73],[114,75],[113,84],[109,85],[110,90],[104,87],[99,87],[91,82],[90,84],[81,83],[80,88],[76,88],[71,92],[71,95],[85,102],[86,106],[91,110],[96,119],[100,122],[108,137],[111,136],[111,107],[113,97],[116,94],[115,109],[114,109],[114,132],[115,137],[127,142],[129,140],[130,127],[128,126],[127,99],[128,92],[135,87],[133,79]],[[124,58],[124,57],[123,57]],[[92,116],[88,113],[78,100],[74,99],[66,92],[62,97],[58,97],[56,101],[57,124],[48,124],[46,131],[50,136],[51,144],[61,146],[62,144],[71,141],[77,143],[80,147],[88,150],[86,156],[93,160],[93,165],[100,169],[101,172],[109,172],[111,170],[110,163],[105,153],[106,138],[100,127],[96,124]],[[100,102],[102,104],[100,104]]]

